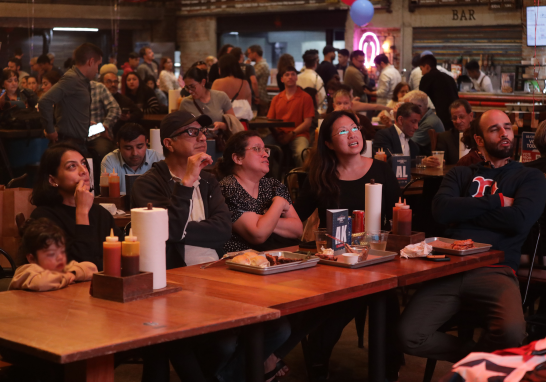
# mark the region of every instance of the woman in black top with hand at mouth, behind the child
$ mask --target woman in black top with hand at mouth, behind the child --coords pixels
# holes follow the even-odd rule
[[[42,156],[31,203],[31,218],[48,218],[67,238],[68,261],[90,261],[102,270],[102,243],[110,230],[123,240],[112,215],[93,204],[89,165],[80,149],[69,143],[49,147]]]

